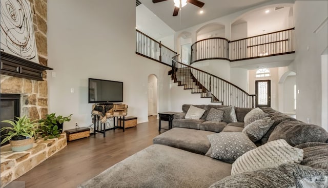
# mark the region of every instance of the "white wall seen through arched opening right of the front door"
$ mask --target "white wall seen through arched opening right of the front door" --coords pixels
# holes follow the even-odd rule
[[[283,111],[282,111],[283,113],[295,114],[295,110],[294,110],[295,84],[296,84],[296,76],[288,76],[283,82]]]

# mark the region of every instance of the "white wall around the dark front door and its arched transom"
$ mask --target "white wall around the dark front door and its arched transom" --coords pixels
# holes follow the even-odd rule
[[[278,110],[278,68],[269,68],[271,76],[256,77],[257,70],[249,70],[249,93],[255,94],[256,80],[271,80],[271,107]]]

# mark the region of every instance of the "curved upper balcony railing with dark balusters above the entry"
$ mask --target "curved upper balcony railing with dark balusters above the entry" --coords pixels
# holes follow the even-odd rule
[[[191,46],[191,64],[200,60],[229,61],[295,53],[294,28],[229,41],[226,38],[199,40]]]

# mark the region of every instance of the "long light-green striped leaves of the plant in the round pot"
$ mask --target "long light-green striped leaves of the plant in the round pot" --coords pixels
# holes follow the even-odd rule
[[[1,122],[9,123],[12,127],[3,127],[0,131],[8,130],[8,133],[2,135],[4,138],[1,144],[8,140],[19,140],[32,138],[36,136],[36,133],[40,130],[39,127],[43,127],[42,122],[38,122],[38,119],[32,120],[26,115],[23,117],[15,117],[17,120],[3,120]]]

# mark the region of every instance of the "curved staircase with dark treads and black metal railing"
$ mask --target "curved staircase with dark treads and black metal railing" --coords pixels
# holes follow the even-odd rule
[[[178,62],[178,55],[173,56],[172,70],[169,71],[178,86],[191,90],[191,93],[199,93],[201,98],[211,98],[211,102],[219,102],[220,105],[254,108],[255,95],[227,80]]]

